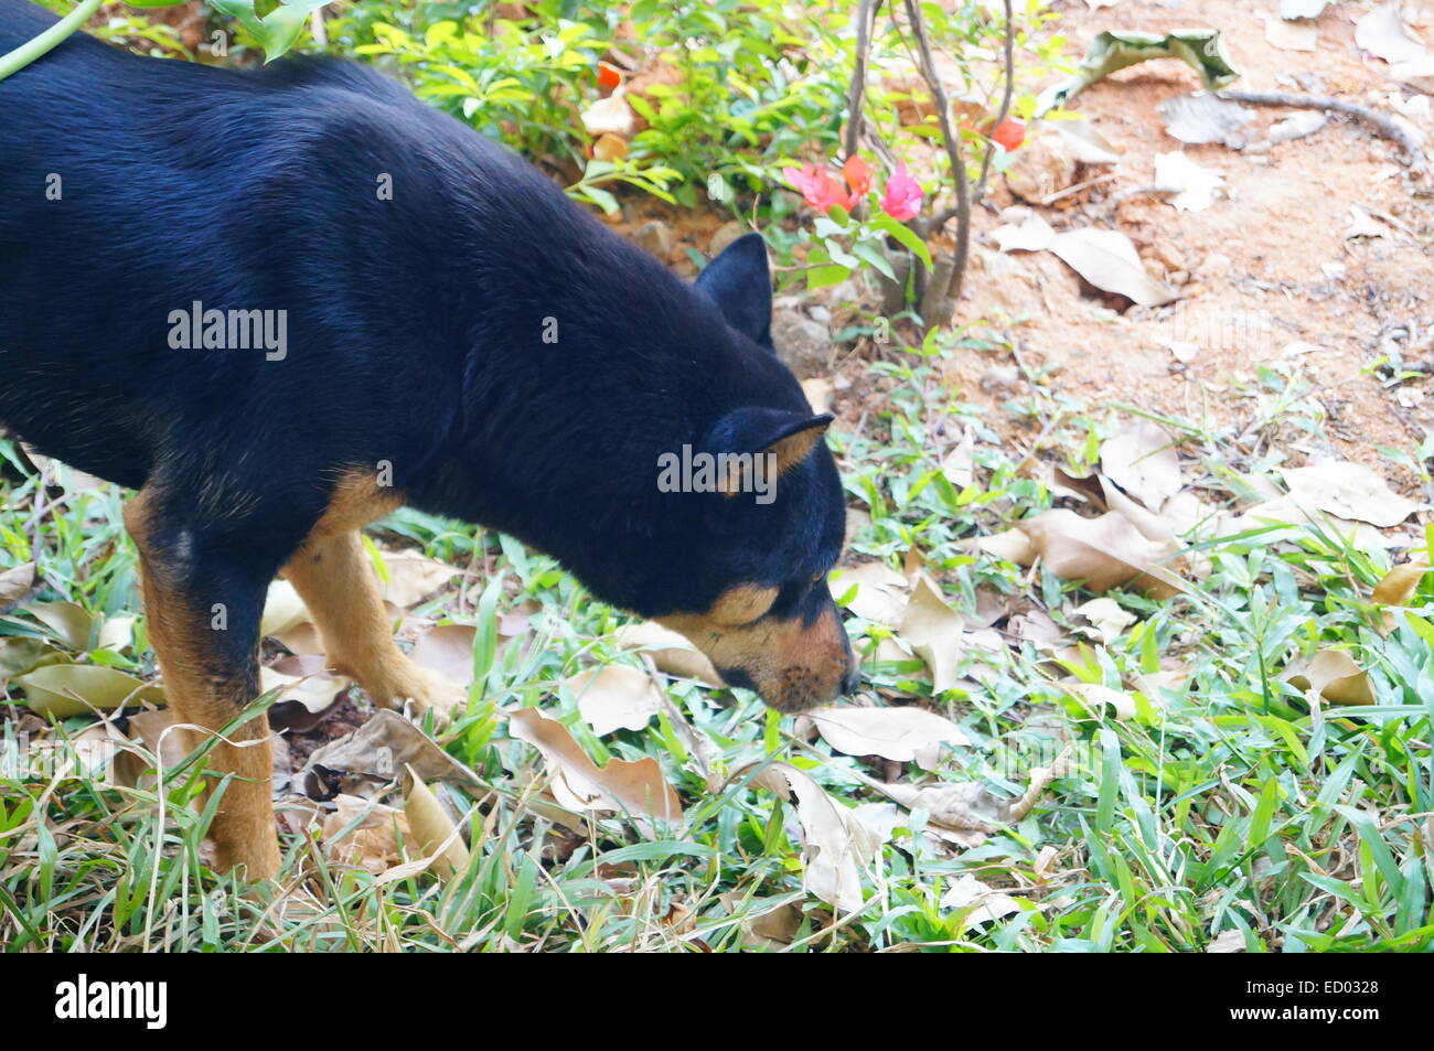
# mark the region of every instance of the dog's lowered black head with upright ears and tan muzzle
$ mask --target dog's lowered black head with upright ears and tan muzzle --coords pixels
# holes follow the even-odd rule
[[[826,582],[846,528],[825,442],[832,417],[812,413],[771,350],[771,278],[760,235],[733,242],[697,288],[749,341],[756,404],[720,414],[690,457],[668,465],[684,480],[710,472],[710,485],[694,498],[697,535],[685,545],[691,607],[664,609],[657,619],[691,639],[730,685],[754,690],[782,711],[802,711],[856,687],[856,662]]]

